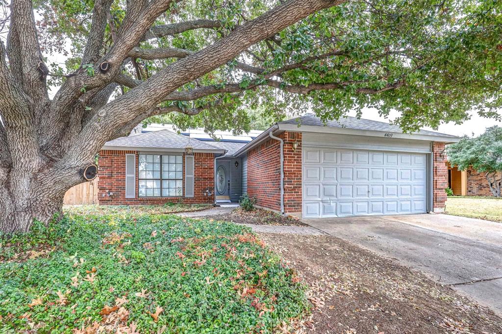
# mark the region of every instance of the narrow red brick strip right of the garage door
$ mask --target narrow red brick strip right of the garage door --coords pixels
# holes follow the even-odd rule
[[[446,206],[446,192],[448,187],[448,162],[444,151],[444,142],[433,142],[432,156],[434,159],[433,175],[433,211],[444,211]]]

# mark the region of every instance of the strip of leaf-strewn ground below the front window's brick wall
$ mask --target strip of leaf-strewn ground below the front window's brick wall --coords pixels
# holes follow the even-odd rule
[[[76,215],[170,214],[211,208],[211,204],[166,203],[164,205],[67,205],[63,212]]]

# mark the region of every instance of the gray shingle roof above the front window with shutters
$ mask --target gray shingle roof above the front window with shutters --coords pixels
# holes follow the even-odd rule
[[[197,139],[190,139],[190,144],[194,149],[220,150],[220,147],[213,146]],[[171,132],[169,130],[160,130],[147,132],[138,135],[121,137],[110,140],[105,146],[122,147],[155,147],[155,148],[185,148],[188,145],[188,137]]]

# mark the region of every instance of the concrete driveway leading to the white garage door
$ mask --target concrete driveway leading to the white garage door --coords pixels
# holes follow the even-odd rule
[[[305,219],[398,260],[502,314],[502,224],[449,215]]]

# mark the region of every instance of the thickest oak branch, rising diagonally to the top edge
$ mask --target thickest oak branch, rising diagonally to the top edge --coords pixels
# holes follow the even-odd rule
[[[338,5],[342,0],[289,0],[262,16],[238,27],[213,45],[170,64],[145,83],[104,106],[82,129],[68,151],[67,159],[81,160],[99,150],[106,141],[102,133],[128,124],[146,110],[160,103],[178,87],[193,81],[235,58],[249,46],[268,38],[321,9]],[[131,48],[132,49],[132,48]],[[127,52],[131,49],[128,49]],[[99,114],[99,115],[98,115]],[[94,138],[89,140],[89,138]]]

